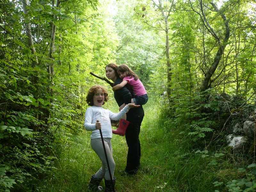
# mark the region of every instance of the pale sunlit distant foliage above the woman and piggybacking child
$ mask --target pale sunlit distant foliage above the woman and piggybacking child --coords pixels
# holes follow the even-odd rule
[[[116,3],[118,14],[114,17],[114,21],[120,38],[116,63],[127,64],[139,76],[146,89],[150,90],[152,81],[149,77],[157,75],[155,71],[158,70],[159,55],[162,54],[160,48],[162,38],[136,19],[137,15],[134,12],[136,4],[129,1]]]

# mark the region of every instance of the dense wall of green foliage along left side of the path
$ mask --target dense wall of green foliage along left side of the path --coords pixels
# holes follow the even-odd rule
[[[33,190],[55,168],[54,161],[70,134],[80,131],[84,95],[91,84],[99,82],[89,80],[89,72],[104,69],[117,41],[115,34],[110,36],[110,23],[95,9],[96,3],[64,1],[58,9],[48,3],[28,2],[38,59],[35,67],[31,66],[35,55],[27,44],[21,7],[16,2],[2,4],[1,191]],[[57,32],[50,59],[52,24]],[[49,66],[52,74],[47,71]]]

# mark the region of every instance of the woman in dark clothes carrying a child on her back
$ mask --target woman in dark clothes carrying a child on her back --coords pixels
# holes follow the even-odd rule
[[[109,63],[105,67],[106,76],[114,82],[114,86],[120,84],[123,80],[117,74],[117,65]],[[131,103],[132,94],[126,86],[114,92],[115,100],[120,107],[123,103]],[[140,125],[144,117],[144,109],[142,106],[131,108],[126,114],[126,120],[130,122],[125,132],[125,139],[128,146],[127,161],[125,174],[134,175],[140,168]]]

